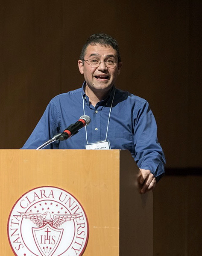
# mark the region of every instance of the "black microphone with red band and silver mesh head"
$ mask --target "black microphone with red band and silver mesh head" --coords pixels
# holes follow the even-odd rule
[[[90,116],[81,116],[75,124],[69,125],[59,136],[59,140],[67,140],[69,137],[77,134],[77,132],[84,126],[89,125],[91,122]]]

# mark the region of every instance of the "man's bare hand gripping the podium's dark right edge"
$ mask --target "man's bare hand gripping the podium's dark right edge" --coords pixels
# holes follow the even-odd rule
[[[155,188],[156,179],[149,170],[140,169],[138,174],[138,184],[140,186],[140,193],[144,194]]]

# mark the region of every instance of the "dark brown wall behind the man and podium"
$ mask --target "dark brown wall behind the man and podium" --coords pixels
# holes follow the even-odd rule
[[[119,42],[117,87],[149,101],[167,159],[154,255],[201,255],[201,0],[0,0],[0,148],[22,147],[50,99],[81,87],[77,60],[99,32]]]

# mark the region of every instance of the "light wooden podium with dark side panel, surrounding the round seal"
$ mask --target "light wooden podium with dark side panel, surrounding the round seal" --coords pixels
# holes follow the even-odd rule
[[[82,204],[89,223],[83,255],[153,255],[152,192],[139,193],[128,151],[1,149],[0,166],[0,255],[14,255],[7,236],[13,205],[41,186],[68,191]]]

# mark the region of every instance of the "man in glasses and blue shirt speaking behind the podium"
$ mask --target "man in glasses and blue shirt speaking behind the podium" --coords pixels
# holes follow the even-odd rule
[[[97,149],[103,145],[107,149],[128,149],[140,168],[140,192],[153,189],[164,175],[164,153],[147,101],[114,87],[122,66],[116,40],[105,34],[92,35],[82,49],[78,66],[85,78],[82,88],[50,101],[23,149],[36,149],[80,116],[88,115],[88,127],[47,148]]]

